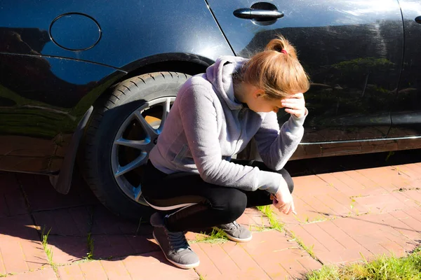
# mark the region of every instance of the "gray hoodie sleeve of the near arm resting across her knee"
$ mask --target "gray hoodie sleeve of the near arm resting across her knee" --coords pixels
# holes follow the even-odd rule
[[[217,112],[204,86],[187,87],[180,92],[180,116],[189,149],[203,181],[219,186],[276,193],[281,174],[264,172],[258,167],[237,165],[222,160],[218,139]],[[260,182],[267,182],[263,185]]]

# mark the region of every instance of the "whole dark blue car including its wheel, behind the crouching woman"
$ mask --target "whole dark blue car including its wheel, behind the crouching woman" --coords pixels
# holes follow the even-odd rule
[[[114,213],[147,215],[142,165],[180,85],[277,34],[312,80],[293,159],[420,148],[420,23],[420,0],[2,1],[0,170],[67,193],[78,165]]]

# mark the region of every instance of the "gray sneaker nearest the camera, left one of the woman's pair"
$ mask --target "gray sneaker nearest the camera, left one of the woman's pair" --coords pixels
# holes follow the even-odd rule
[[[170,232],[163,223],[159,213],[151,216],[151,225],[154,226],[153,236],[158,242],[166,259],[173,265],[180,268],[197,267],[200,263],[199,257],[194,253],[187,243],[184,232]]]

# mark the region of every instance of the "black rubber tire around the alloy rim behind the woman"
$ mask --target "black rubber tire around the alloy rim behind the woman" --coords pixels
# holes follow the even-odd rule
[[[116,169],[117,164],[124,167],[124,164],[131,162],[133,158],[148,156],[149,152],[121,146],[120,141],[116,141],[116,137],[120,135],[120,139],[143,139],[142,143],[149,143],[139,121],[139,115],[134,112],[140,112],[138,109],[142,106],[149,108],[149,105],[160,100],[168,102],[169,99],[175,99],[178,90],[187,78],[189,76],[184,73],[175,72],[147,73],[136,76],[119,83],[111,94],[102,97],[102,100],[95,104],[93,116],[86,131],[81,173],[100,202],[114,214],[135,221],[139,221],[140,218],[142,221],[149,221],[149,216],[153,213],[152,208],[144,202],[142,204],[142,199],[136,201],[133,197],[135,190],[138,189],[133,188],[133,196],[130,196],[130,186],[136,186],[140,182],[145,159],[142,160],[140,167],[136,167],[131,172],[114,176],[114,173],[119,174],[115,172],[119,170]],[[142,111],[144,120],[148,123],[150,120],[159,123],[159,117],[162,114],[159,108],[162,109],[162,106],[151,105],[149,109]],[[131,118],[134,119],[131,120]],[[127,131],[123,128],[124,126],[127,126]],[[150,147],[150,143],[148,145]]]

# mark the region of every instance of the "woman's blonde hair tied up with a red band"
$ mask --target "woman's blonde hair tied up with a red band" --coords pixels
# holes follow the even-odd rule
[[[234,83],[255,85],[269,99],[307,92],[309,76],[298,61],[297,51],[283,36],[272,39],[265,50],[258,52],[234,76]]]

